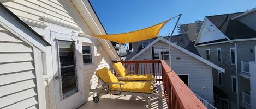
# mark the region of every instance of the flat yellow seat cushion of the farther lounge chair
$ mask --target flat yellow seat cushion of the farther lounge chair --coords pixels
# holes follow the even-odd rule
[[[144,74],[144,75],[135,75],[135,74],[128,74],[125,76],[128,80],[133,81],[153,81],[154,76],[152,74]]]

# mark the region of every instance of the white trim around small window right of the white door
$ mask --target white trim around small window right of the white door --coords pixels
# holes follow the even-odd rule
[[[95,59],[95,54],[96,54],[96,50],[95,50],[95,47],[94,47],[94,45],[92,44],[92,43],[88,43],[88,42],[82,42],[82,44],[81,44],[81,53],[82,53],[82,46],[90,46],[90,52],[91,52],[91,55],[92,55],[92,63],[88,63],[88,64],[86,64],[86,65],[84,65],[84,57],[83,57],[83,55],[84,54],[82,54],[82,65],[83,65],[83,69],[84,68],[86,68],[86,67],[90,67],[90,66],[93,66],[93,65],[95,65],[95,61],[96,61],[96,59]]]

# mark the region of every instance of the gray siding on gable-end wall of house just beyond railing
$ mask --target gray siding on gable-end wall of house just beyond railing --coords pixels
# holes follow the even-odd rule
[[[152,47],[166,49],[169,48],[169,45],[158,41]],[[171,47],[170,51],[172,69],[177,74],[189,74],[189,88],[200,97],[213,103],[212,68],[174,47]],[[134,60],[152,59],[151,55],[151,48],[148,48]],[[177,57],[180,57],[180,60],[177,60]]]

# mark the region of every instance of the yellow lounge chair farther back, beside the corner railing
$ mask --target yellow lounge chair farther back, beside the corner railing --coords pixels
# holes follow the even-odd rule
[[[131,81],[155,81],[154,76],[152,74],[144,74],[144,75],[127,74],[128,72],[133,72],[133,71],[126,70],[126,68],[122,65],[121,62],[114,63],[113,67],[117,75],[120,77],[120,79],[131,80]]]

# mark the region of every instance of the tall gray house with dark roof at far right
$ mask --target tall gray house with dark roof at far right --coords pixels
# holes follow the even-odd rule
[[[253,9],[204,19],[195,47],[201,57],[225,69],[225,73],[213,69],[217,108],[252,108],[250,94],[255,92],[250,84],[256,70],[249,61],[256,57],[255,18]]]

